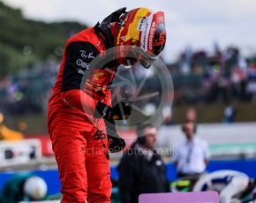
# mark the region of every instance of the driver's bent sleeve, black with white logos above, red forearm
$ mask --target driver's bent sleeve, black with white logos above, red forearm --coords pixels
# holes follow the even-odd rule
[[[66,49],[62,99],[75,109],[95,109],[96,102],[80,89],[81,81],[90,63],[99,54],[93,44],[86,41],[71,42]]]

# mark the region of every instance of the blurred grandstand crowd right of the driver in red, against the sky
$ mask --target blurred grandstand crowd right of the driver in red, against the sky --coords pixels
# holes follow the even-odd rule
[[[212,53],[187,48],[169,71],[177,104],[256,101],[256,56],[246,58],[236,47],[215,44]]]

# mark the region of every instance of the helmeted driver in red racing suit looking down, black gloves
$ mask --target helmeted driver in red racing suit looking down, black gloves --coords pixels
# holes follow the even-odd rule
[[[111,13],[65,44],[48,109],[63,203],[110,202],[109,152],[122,150],[125,143],[115,127],[106,125],[129,117],[132,104],[124,100],[112,106],[109,84],[119,64],[139,62],[149,68],[165,45],[162,11],[125,10]],[[135,48],[139,51],[128,56]],[[115,50],[113,60],[94,68],[96,57],[104,62],[108,49]]]

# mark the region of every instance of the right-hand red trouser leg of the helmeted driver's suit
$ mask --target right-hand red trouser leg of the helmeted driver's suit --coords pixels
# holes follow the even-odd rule
[[[98,131],[87,139],[88,203],[110,203],[111,181],[109,169],[109,147],[105,122],[96,119]]]

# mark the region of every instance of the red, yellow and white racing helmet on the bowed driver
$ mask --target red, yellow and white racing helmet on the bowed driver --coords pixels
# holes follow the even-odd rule
[[[125,60],[129,46],[139,48],[136,57],[139,63],[148,68],[164,48],[166,29],[162,11],[137,8],[120,17],[117,28],[117,57]]]

